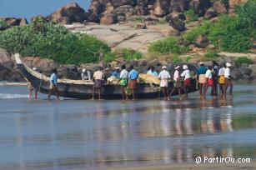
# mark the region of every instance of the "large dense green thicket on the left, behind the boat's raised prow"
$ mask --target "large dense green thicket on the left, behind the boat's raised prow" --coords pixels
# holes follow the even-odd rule
[[[108,45],[96,37],[69,32],[63,26],[45,23],[42,18],[30,25],[0,32],[0,47],[22,56],[46,57],[69,64],[98,62],[99,51],[108,61],[113,57]]]

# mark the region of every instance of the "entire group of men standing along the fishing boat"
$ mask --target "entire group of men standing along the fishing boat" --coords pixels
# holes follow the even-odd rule
[[[197,82],[201,98],[205,98],[208,87],[212,88],[211,94],[213,95],[213,97],[218,96],[219,89],[219,95],[225,98],[228,87],[230,87],[229,95],[233,95],[233,82],[230,75],[231,66],[231,63],[229,62],[223,64],[220,68],[218,67],[218,63],[214,61],[213,64],[208,67],[205,67],[203,62],[199,63],[199,67],[197,70]],[[34,70],[35,69],[36,68],[34,68]],[[153,66],[150,66],[148,67],[147,74],[153,77],[160,78],[159,85],[162,89],[163,97],[165,100],[168,100],[170,97],[172,97],[175,90],[178,91],[180,99],[182,99],[182,90],[185,93],[186,97],[188,97],[188,88],[191,86],[191,76],[187,65],[175,67],[175,71],[173,73],[173,89],[170,92],[168,90],[168,85],[169,80],[171,79],[171,75],[168,72],[166,66],[162,67],[162,71],[159,72],[159,74],[157,71],[154,70]],[[128,99],[128,91],[131,93],[133,100],[136,98],[135,92],[138,82],[138,71],[135,70],[133,66],[129,67],[129,72],[125,65],[122,65],[121,70],[120,67],[116,67],[115,71],[112,73],[112,77],[118,78],[117,84],[121,86],[123,100]],[[93,79],[92,99],[94,99],[95,92],[98,91],[98,99],[100,100],[102,98],[101,87],[103,86],[105,81],[102,68],[98,67],[98,70],[93,73],[93,78],[91,78],[91,72],[83,69],[81,78],[82,80]],[[30,90],[29,97],[31,98],[33,86],[31,83],[28,83],[28,87]],[[48,94],[48,99],[50,99],[53,92],[56,92],[56,95],[59,98],[57,69],[53,69],[52,75],[50,77],[50,92]],[[35,92],[35,97],[38,97],[38,92]]]

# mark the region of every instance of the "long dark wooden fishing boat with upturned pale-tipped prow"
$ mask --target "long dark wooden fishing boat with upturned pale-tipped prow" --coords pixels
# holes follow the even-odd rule
[[[49,77],[43,74],[33,71],[21,60],[17,60],[17,65],[23,77],[28,82],[31,82],[33,87],[42,92],[48,94],[50,91],[50,81]],[[169,89],[173,88],[173,82],[169,82]],[[83,80],[70,80],[70,79],[58,79],[58,90],[61,97],[71,97],[78,99],[90,99],[92,98],[93,92],[93,81],[83,81]],[[192,85],[189,87],[189,92],[195,92],[197,90],[196,80],[192,78]],[[163,97],[163,93],[160,92],[158,85],[152,83],[138,82],[138,87],[136,89],[137,98],[158,98]],[[54,94],[53,94],[54,95]],[[178,95],[178,92],[174,92],[173,95]],[[98,95],[95,95],[98,97]],[[102,87],[102,98],[103,99],[121,99],[122,92],[121,87],[116,84],[105,84]]]

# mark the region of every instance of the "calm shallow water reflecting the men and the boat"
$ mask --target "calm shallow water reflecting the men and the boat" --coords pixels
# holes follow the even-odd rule
[[[80,169],[256,158],[256,86],[227,100],[29,101],[0,86],[0,169]]]

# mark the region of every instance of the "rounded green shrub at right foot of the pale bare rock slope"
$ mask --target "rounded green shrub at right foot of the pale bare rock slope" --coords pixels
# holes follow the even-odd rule
[[[178,45],[178,39],[175,37],[168,37],[157,42],[153,42],[148,47],[148,52],[158,53],[158,54],[169,54],[187,52],[187,47],[182,47]]]

